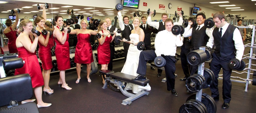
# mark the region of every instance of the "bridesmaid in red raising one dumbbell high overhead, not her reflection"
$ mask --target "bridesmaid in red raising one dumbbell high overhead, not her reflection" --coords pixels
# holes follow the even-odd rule
[[[34,25],[36,26],[36,30],[41,32],[44,29],[45,25],[45,20],[46,20],[46,10],[43,5],[41,5],[41,8],[43,9],[42,16],[37,16],[34,20]],[[42,75],[44,77],[44,88],[43,91],[45,93],[48,93],[51,95],[53,93],[53,90],[49,87],[49,81],[50,81],[50,73],[51,73],[51,68],[52,68],[52,63],[51,63],[51,48],[49,45],[49,35],[50,32],[47,33],[47,35],[41,35],[38,36],[38,56],[39,59],[42,62]]]

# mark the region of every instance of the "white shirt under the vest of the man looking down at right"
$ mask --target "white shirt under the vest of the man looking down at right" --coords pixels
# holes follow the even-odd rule
[[[223,27],[220,27],[220,28],[222,28],[221,37],[226,32],[228,26],[229,26],[229,23],[226,23]],[[219,31],[220,31],[220,28],[219,28]],[[243,45],[243,40],[242,40],[241,34],[240,34],[238,29],[234,30],[233,40],[234,40],[234,43],[235,43],[235,48],[237,50],[236,58],[241,61],[241,59],[243,57],[243,52],[244,52],[244,45]],[[209,46],[210,48],[212,48],[213,45],[214,45],[214,37],[211,35],[211,37],[209,38],[209,41],[207,42],[206,46]]]

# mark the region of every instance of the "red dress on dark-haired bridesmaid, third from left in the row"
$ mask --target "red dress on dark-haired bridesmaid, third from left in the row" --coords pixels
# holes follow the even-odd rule
[[[58,26],[57,28],[59,29]],[[62,32],[62,36],[63,35],[64,33]],[[69,35],[67,34],[67,39],[64,45],[62,45],[57,38],[54,38],[56,42],[55,56],[57,60],[58,70],[66,70],[70,68],[68,38]]]

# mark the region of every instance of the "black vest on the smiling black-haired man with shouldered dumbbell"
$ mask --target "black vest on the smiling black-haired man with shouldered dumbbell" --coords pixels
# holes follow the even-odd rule
[[[198,26],[197,26],[198,27]],[[196,32],[196,28],[192,28],[192,41],[191,41],[191,47],[192,49],[199,49],[200,46],[206,46],[206,43],[208,42],[208,35],[205,33],[206,27],[203,26]]]

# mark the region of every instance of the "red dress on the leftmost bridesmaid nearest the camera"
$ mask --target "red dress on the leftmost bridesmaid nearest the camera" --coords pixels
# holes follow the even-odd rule
[[[25,61],[25,64],[22,68],[15,69],[14,75],[28,73],[31,77],[33,88],[44,85],[44,79],[36,52],[30,53],[25,47],[19,47],[17,49],[19,58],[22,58]]]

